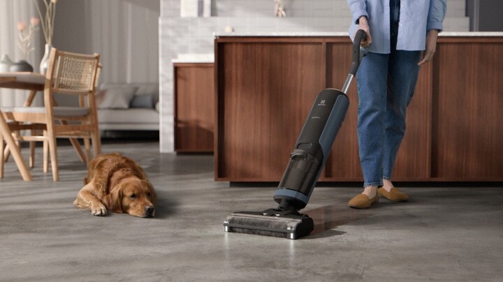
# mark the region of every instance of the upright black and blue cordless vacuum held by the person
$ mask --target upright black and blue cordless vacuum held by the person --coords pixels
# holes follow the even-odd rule
[[[311,197],[346,115],[349,107],[346,93],[366,54],[362,52],[360,56],[360,43],[365,38],[365,31],[356,33],[351,70],[342,90],[325,89],[316,97],[275,192],[274,200],[279,206],[265,211],[234,212],[224,221],[226,232],[298,239],[314,229],[312,218],[300,214],[299,210],[307,205]]]

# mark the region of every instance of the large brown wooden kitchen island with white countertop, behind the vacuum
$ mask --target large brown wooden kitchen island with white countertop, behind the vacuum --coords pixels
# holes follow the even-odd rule
[[[314,98],[340,89],[344,33],[216,36],[217,181],[279,181]],[[356,82],[320,181],[362,181]],[[421,67],[395,181],[503,181],[503,33],[444,33]]]

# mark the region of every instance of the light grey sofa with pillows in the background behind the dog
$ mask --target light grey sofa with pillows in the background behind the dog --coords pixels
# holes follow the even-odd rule
[[[109,83],[96,91],[100,131],[159,131],[159,84]]]

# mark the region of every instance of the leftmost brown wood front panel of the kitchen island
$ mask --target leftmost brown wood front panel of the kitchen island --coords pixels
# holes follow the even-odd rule
[[[215,177],[279,181],[314,97],[323,89],[321,43],[218,46]]]

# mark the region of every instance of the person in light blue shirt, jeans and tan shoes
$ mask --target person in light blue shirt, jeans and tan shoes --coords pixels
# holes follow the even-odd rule
[[[419,68],[435,54],[446,0],[347,0],[352,13],[349,35],[363,29],[368,54],[356,73],[358,149],[363,193],[349,207],[365,209],[379,201],[406,201],[391,173],[405,133],[405,113]]]

